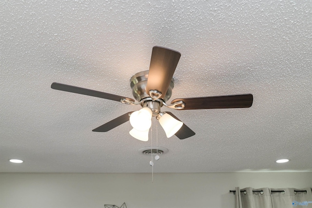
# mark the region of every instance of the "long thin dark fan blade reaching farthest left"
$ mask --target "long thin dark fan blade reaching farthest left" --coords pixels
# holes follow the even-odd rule
[[[126,97],[122,97],[119,95],[113,95],[113,94],[109,94],[106,92],[100,92],[100,91],[96,91],[96,90],[92,90],[92,89],[86,89],[86,88],[67,85],[67,84],[52,83],[51,88],[66,91],[66,92],[73,92],[73,93],[78,93],[78,94],[82,94],[82,95],[89,95],[89,96],[93,96],[93,97],[104,98],[104,99],[108,99],[108,100],[112,100],[112,101],[118,101],[119,102],[121,99],[126,99],[126,100],[134,102],[134,100],[131,98],[126,98]]]

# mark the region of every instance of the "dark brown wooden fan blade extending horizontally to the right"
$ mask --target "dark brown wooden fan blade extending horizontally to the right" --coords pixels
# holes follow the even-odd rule
[[[171,102],[183,101],[185,106],[181,110],[191,109],[216,109],[216,108],[241,108],[253,104],[252,94],[226,95],[213,97],[179,98]]]

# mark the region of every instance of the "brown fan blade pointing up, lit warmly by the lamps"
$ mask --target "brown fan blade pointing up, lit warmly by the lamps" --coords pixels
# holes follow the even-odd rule
[[[175,50],[159,46],[153,47],[146,86],[148,95],[150,90],[161,92],[159,98],[166,95],[180,57],[181,54]]]

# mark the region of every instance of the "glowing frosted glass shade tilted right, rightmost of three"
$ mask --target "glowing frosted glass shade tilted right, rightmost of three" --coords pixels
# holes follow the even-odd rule
[[[183,125],[168,113],[163,114],[158,121],[165,130],[167,138],[172,137]]]

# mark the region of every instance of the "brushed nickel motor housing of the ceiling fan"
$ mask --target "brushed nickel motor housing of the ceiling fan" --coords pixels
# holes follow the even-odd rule
[[[147,79],[148,79],[148,73],[149,71],[141,71],[137,74],[133,75],[130,79],[130,86],[132,89],[133,97],[140,102],[144,98],[151,97],[149,94],[146,93],[146,85],[147,85]],[[166,103],[172,95],[172,89],[174,88],[174,79],[171,79],[171,82],[169,84],[168,90],[166,95],[162,98],[162,100]],[[163,93],[163,92],[160,92]]]

